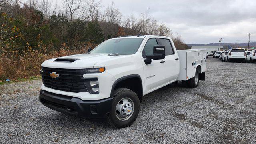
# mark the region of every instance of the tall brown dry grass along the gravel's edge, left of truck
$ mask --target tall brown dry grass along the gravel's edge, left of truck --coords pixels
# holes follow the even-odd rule
[[[49,54],[33,51],[18,57],[2,55],[0,57],[0,80],[6,80],[7,78],[17,80],[18,78],[28,78],[30,76],[39,75],[41,64],[45,60],[60,56],[82,54],[85,53],[85,49],[86,48],[77,50],[60,49],[58,51],[52,51]]]

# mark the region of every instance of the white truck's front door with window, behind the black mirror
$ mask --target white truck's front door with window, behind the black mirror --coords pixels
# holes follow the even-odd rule
[[[146,59],[146,55],[153,54],[153,47],[158,43],[156,38],[148,39],[142,52],[144,59]],[[164,60],[152,60],[151,64],[143,63],[145,92],[165,84],[166,64]]]

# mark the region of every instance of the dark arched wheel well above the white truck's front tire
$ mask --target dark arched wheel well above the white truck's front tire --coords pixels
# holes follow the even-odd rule
[[[112,87],[111,95],[114,92],[114,90],[118,88],[128,88],[134,91],[138,95],[140,102],[142,102],[143,89],[142,89],[142,81],[140,76],[128,76],[125,78],[120,78],[114,83],[113,87]]]

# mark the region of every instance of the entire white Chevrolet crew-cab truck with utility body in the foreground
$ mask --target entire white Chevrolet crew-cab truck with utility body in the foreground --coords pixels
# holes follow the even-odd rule
[[[196,88],[205,79],[206,50],[176,50],[165,36],[122,36],[41,66],[44,106],[123,128],[136,120],[144,95],[178,80]]]

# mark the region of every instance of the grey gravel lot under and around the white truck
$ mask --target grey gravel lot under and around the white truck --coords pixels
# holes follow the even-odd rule
[[[41,80],[0,85],[0,143],[256,143],[256,64],[208,58],[207,69],[198,88],[145,96],[122,129],[46,108]]]

